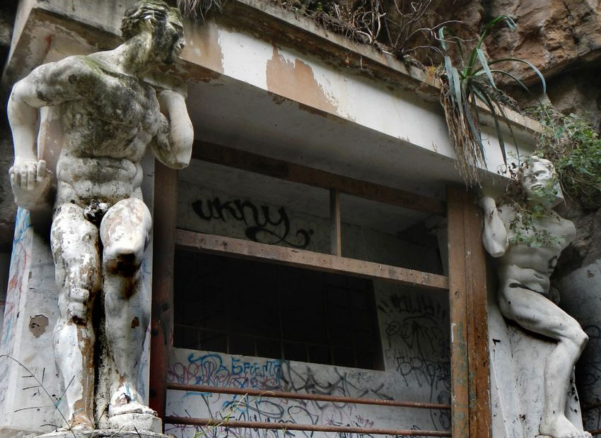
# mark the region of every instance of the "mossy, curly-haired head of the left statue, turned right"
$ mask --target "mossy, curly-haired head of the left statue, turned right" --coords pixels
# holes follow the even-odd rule
[[[127,8],[121,22],[124,39],[151,32],[153,58],[170,64],[184,48],[182,14],[163,0],[141,0]]]

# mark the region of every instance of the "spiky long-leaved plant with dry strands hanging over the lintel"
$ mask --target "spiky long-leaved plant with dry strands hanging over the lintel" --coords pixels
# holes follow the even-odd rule
[[[528,90],[527,86],[512,73],[494,69],[491,66],[504,62],[527,64],[539,77],[542,83],[542,93],[546,93],[547,85],[542,73],[529,61],[518,58],[489,59],[486,57],[482,49],[484,38],[494,25],[501,22],[506,23],[509,28],[515,29],[515,23],[510,17],[494,18],[484,27],[476,45],[467,54],[467,57],[462,47],[464,41],[453,30],[448,26],[443,26],[438,30],[440,47],[444,54],[443,73],[440,75],[440,102],[445,111],[450,143],[457,153],[457,170],[467,184],[479,184],[477,167],[486,167],[484,143],[480,131],[479,102],[481,105],[486,105],[491,112],[503,161],[507,164],[505,142],[499,122],[500,116],[505,120],[511,136],[513,136],[513,131],[503,108],[506,99],[501,90],[497,88],[494,76],[507,76]],[[449,43],[453,43],[453,45]],[[453,65],[453,49],[456,50],[460,59],[459,68]]]

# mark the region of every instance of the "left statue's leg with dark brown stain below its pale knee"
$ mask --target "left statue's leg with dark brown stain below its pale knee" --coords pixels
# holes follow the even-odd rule
[[[138,369],[150,321],[150,291],[140,281],[151,214],[143,201],[117,202],[100,224],[107,347],[119,374],[109,414],[154,413],[138,391]]]

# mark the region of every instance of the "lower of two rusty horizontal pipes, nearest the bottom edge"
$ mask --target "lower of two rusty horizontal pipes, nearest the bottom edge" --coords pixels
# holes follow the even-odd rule
[[[440,430],[407,430],[407,429],[371,429],[368,427],[349,427],[331,425],[297,425],[291,422],[263,422],[263,421],[238,421],[212,418],[185,418],[165,417],[165,423],[170,425],[213,426],[213,427],[240,427],[245,429],[272,429],[272,430],[301,430],[307,432],[341,432],[349,434],[373,435],[404,435],[407,437],[450,437],[450,432]]]

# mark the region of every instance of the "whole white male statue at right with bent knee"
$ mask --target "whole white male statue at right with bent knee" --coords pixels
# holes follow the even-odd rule
[[[557,341],[544,366],[542,437],[590,438],[565,415],[570,377],[588,336],[556,305],[559,297],[549,283],[559,254],[575,237],[576,228],[549,205],[550,189],[556,182],[551,162],[532,157],[520,167],[519,178],[529,209],[544,211],[533,215],[532,224],[523,223],[514,205],[497,207],[490,196],[479,201],[484,210],[484,247],[499,259],[498,304],[506,318]]]

